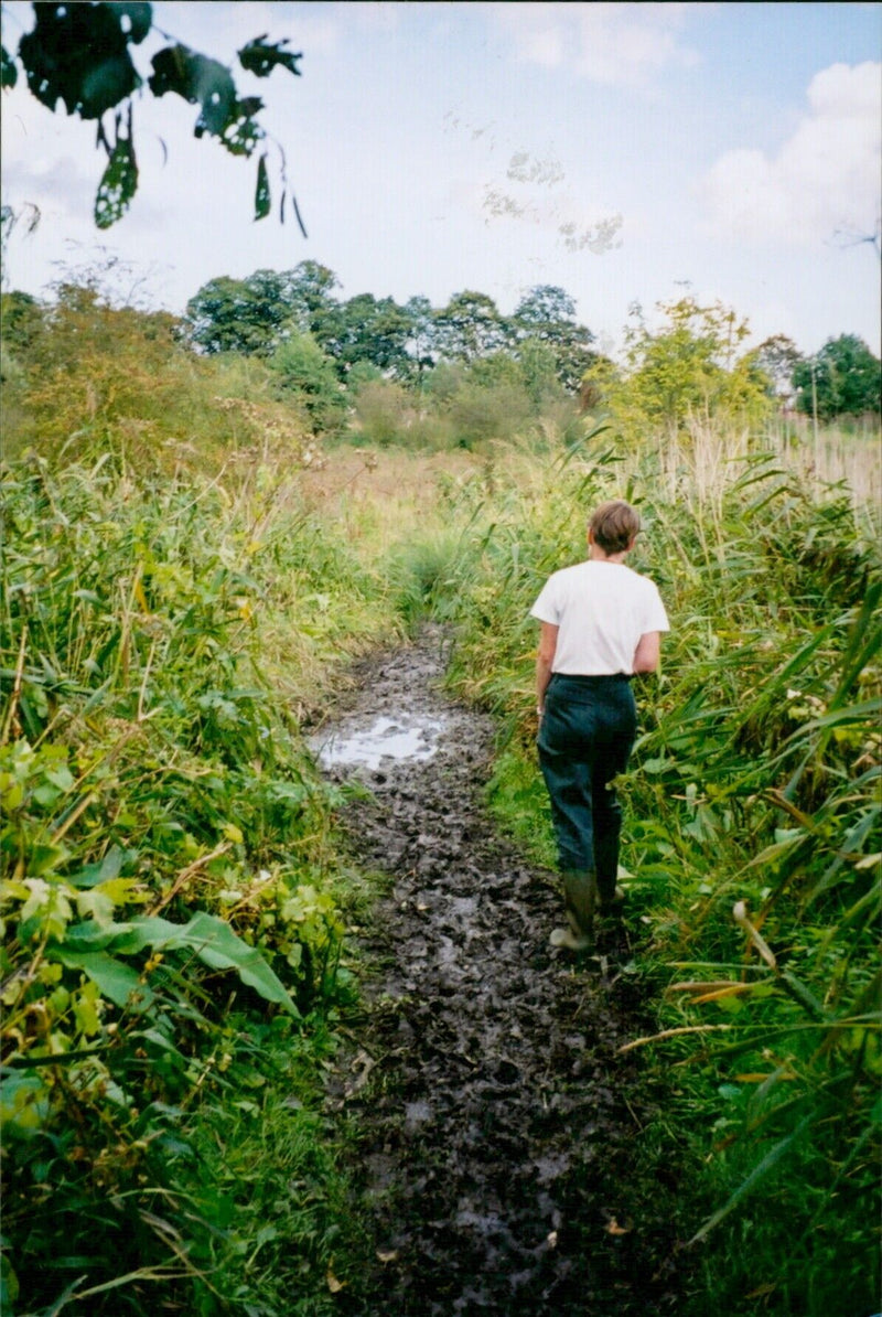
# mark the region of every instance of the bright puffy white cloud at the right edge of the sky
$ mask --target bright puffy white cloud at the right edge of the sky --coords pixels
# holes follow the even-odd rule
[[[831,65],[777,155],[727,151],[703,179],[710,228],[746,241],[816,245],[837,229],[871,232],[879,213],[882,65]]]

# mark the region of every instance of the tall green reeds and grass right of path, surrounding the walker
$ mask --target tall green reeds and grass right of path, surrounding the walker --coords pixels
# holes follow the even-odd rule
[[[623,863],[652,935],[642,965],[667,985],[658,1036],[640,1042],[660,1067],[679,1063],[686,1096],[665,1122],[706,1167],[694,1201],[712,1196],[691,1226],[707,1276],[695,1313],[753,1312],[760,1285],[781,1317],[870,1312],[878,554],[840,491],[815,500],[761,457],[673,502],[656,454],[636,456],[627,481],[613,461],[595,440],[542,474],[498,471],[484,516],[461,508],[471,529],[437,606],[458,624],[453,682],[506,718],[494,809],[548,863],[529,607],[582,556],[594,503],[638,503],[633,565],[658,581],[674,631],[661,680],[637,687]]]

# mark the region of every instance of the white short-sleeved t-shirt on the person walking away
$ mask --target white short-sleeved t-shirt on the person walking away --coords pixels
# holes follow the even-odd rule
[[[552,670],[570,677],[632,673],[640,637],[670,631],[649,577],[591,558],[550,576],[531,616],[559,627]]]

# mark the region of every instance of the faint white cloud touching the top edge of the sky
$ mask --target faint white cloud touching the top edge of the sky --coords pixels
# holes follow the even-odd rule
[[[698,63],[681,43],[683,4],[491,5],[515,42],[517,58],[546,68],[569,67],[606,86],[645,86],[660,70]]]

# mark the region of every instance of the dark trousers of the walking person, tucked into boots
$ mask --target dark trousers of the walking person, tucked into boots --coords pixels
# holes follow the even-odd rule
[[[563,677],[545,693],[538,760],[552,799],[562,872],[595,872],[602,903],[619,872],[621,805],[611,785],[624,773],[637,710],[625,676]]]

